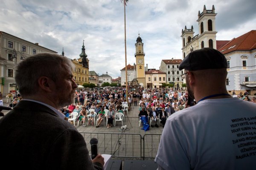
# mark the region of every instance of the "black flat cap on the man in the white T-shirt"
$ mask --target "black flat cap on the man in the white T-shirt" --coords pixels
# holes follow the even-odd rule
[[[189,53],[180,63],[179,70],[197,71],[205,69],[227,68],[227,59],[213,48],[201,48]]]

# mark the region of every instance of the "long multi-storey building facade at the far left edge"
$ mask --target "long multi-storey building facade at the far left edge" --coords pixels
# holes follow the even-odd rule
[[[38,43],[32,43],[0,31],[0,92],[6,96],[18,87],[15,82],[15,68],[23,59],[38,53],[53,53],[56,51],[45,48]]]

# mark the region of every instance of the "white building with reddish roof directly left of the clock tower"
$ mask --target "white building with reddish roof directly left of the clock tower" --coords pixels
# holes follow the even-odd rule
[[[125,76],[125,67],[121,71],[121,86],[126,85],[126,76]],[[127,65],[127,82],[131,82],[133,79],[136,79],[136,65]]]

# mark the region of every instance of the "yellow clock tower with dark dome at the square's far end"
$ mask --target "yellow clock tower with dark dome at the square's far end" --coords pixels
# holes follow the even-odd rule
[[[137,81],[138,83],[145,87],[146,85],[146,81],[145,81],[145,62],[144,62],[144,57],[145,57],[145,53],[143,51],[143,43],[142,43],[142,39],[140,37],[137,38],[136,40],[136,53],[135,53],[135,57],[136,57],[136,74],[137,74]]]

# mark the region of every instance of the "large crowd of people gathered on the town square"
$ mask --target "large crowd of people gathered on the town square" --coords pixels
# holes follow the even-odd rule
[[[234,95],[233,95],[234,96]],[[241,94],[240,99],[256,102],[255,97],[249,99],[248,94]],[[173,88],[129,88],[126,101],[125,88],[104,88],[93,91],[76,91],[74,103],[63,108],[61,112],[68,118],[71,113],[77,112],[77,121],[83,126],[94,125],[99,127],[104,119],[108,119],[107,128],[113,126],[115,113],[123,112],[123,105],[139,106],[139,119],[148,117],[151,127],[165,125],[169,115],[184,109],[188,92]],[[93,110],[92,110],[93,109]],[[91,110],[91,111],[90,111]],[[107,112],[106,112],[107,111]],[[94,122],[95,117],[97,122]]]

